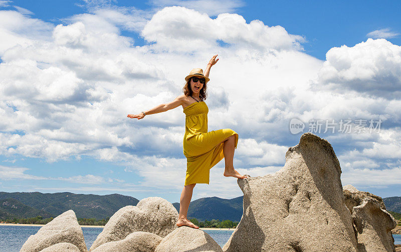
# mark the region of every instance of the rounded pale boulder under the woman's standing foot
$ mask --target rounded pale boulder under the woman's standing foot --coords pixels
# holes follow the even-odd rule
[[[222,252],[219,244],[205,231],[180,226],[165,236],[154,252]]]

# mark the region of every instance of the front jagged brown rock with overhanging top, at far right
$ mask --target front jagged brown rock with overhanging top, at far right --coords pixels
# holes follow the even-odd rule
[[[352,217],[358,231],[359,251],[394,251],[391,229],[395,220],[378,200],[366,197],[361,205],[353,207]]]

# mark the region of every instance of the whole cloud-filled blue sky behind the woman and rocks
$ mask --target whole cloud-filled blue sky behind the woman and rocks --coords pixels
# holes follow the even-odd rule
[[[124,115],[173,99],[190,68],[204,68],[219,53],[207,101],[210,129],[240,134],[241,173],[283,166],[301,135],[290,133],[292,118],[306,124],[304,132],[312,119],[380,119],[381,131],[373,134],[316,134],[331,142],[344,184],[399,196],[400,7],[399,1],[0,1],[0,190],[179,201],[182,111],[140,121]],[[191,33],[193,27],[202,32]],[[244,83],[259,92],[244,90]],[[222,161],[192,199],[242,195],[223,169]]]

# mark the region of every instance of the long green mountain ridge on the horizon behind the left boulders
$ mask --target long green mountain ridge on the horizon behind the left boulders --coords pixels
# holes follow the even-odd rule
[[[9,198],[17,199],[27,206],[43,212],[48,212],[54,216],[69,209],[73,209],[78,218],[96,219],[110,217],[121,207],[136,205],[139,202],[139,200],[134,197],[117,193],[95,195],[75,194],[71,192],[0,192],[0,200]],[[30,209],[30,211],[32,211],[32,209]]]

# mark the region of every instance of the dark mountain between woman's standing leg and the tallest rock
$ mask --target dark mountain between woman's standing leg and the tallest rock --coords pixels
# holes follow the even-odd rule
[[[179,203],[173,203],[179,212]],[[240,221],[243,212],[243,196],[232,199],[219,197],[198,198],[189,203],[188,219],[197,218],[199,221],[205,219],[230,219]]]

